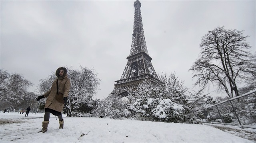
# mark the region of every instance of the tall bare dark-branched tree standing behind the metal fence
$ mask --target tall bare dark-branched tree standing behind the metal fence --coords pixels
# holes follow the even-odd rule
[[[217,27],[208,31],[200,43],[200,58],[189,71],[197,77],[195,85],[216,85],[225,90],[230,98],[239,96],[237,83],[252,80],[256,75],[255,55],[249,51],[243,31]]]

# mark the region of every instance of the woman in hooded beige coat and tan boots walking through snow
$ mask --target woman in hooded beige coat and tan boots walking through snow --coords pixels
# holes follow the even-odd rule
[[[64,120],[62,118],[62,110],[64,104],[67,101],[68,93],[70,90],[70,79],[68,78],[67,69],[60,67],[55,72],[57,78],[52,83],[51,89],[42,96],[38,96],[36,101],[39,101],[42,98],[47,98],[44,106],[44,121],[42,122],[42,130],[39,132],[45,133],[49,124],[50,113],[55,116],[58,116],[60,127],[63,129]]]

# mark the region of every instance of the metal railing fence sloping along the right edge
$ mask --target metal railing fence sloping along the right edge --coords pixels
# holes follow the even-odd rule
[[[256,129],[255,92],[256,89],[241,96],[230,98],[229,100],[204,108],[203,112],[207,114],[207,119],[203,119],[203,122]]]

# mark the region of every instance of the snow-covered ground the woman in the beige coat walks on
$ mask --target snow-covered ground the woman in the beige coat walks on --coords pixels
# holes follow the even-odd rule
[[[0,112],[0,143],[256,143],[209,125],[131,119],[64,117],[58,129],[52,114],[48,131],[38,133],[44,114],[24,116]]]

